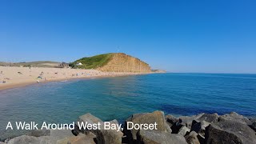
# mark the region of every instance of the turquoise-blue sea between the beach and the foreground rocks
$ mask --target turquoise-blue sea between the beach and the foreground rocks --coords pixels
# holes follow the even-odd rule
[[[7,122],[77,120],[91,113],[123,122],[131,114],[256,115],[256,74],[147,74],[117,78],[49,82],[0,91],[0,138],[22,134]]]

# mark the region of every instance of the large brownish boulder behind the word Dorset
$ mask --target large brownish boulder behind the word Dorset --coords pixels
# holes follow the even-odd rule
[[[129,142],[134,142],[137,140],[138,130],[126,130],[127,122],[133,122],[134,124],[154,124],[156,122],[158,124],[156,126],[158,131],[171,133],[170,126],[167,125],[162,111],[154,111],[153,113],[145,114],[133,114],[126,120],[124,133],[126,134]]]

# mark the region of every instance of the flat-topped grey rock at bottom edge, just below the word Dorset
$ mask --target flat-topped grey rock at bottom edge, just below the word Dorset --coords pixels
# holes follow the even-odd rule
[[[143,144],[186,144],[186,139],[180,134],[170,134],[158,130],[139,130],[138,143]]]

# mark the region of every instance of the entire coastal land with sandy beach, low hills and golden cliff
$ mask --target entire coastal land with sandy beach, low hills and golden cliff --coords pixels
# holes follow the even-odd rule
[[[71,78],[114,77],[164,72],[123,53],[98,54],[74,62],[0,62],[0,90]]]

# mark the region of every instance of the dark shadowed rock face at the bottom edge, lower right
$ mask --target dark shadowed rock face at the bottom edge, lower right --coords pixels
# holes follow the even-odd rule
[[[242,139],[238,138],[237,135],[222,130],[218,126],[210,125],[206,128],[206,144],[219,144],[219,143],[230,143],[239,144],[242,143]]]

